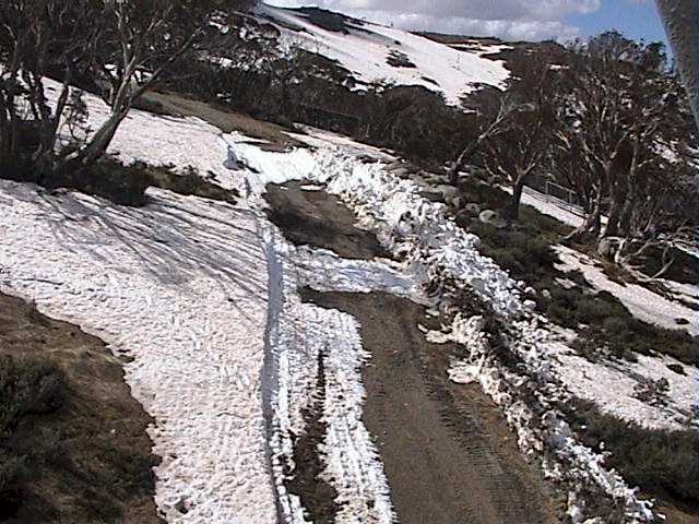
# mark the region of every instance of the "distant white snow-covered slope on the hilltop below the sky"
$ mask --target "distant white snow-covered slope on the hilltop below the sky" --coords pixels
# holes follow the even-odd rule
[[[449,104],[459,104],[474,84],[502,87],[509,71],[499,60],[483,58],[488,46],[459,50],[401,29],[328,13],[340,27],[323,28],[309,11],[260,4],[256,13],[281,32],[281,44],[296,45],[336,60],[362,83],[389,81],[419,85],[443,93]],[[320,12],[327,13],[327,12]],[[329,24],[321,24],[331,27]],[[391,60],[393,57],[393,60]],[[402,63],[403,66],[391,66]]]

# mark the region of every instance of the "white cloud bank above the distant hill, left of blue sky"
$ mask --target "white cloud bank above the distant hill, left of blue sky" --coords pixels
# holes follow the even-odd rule
[[[601,0],[270,0],[284,7],[318,5],[413,31],[506,39],[569,39],[567,16],[588,14]]]

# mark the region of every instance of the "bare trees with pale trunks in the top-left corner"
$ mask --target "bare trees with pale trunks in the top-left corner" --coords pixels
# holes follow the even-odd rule
[[[134,102],[185,57],[202,59],[225,38],[224,0],[8,0],[0,5],[0,162],[17,164],[17,122],[39,130],[31,162],[47,176],[80,172],[99,158]],[[228,8],[227,8],[228,9]],[[61,82],[49,102],[45,79]],[[99,128],[70,147],[59,123],[73,81],[91,79],[109,106]],[[19,112],[28,107],[28,115]],[[63,146],[61,146],[63,145]],[[26,156],[26,155],[25,155]]]

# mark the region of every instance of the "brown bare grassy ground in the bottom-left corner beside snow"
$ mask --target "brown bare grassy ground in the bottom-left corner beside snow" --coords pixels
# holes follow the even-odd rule
[[[0,431],[0,454],[24,456],[16,500],[0,504],[0,522],[162,523],[153,501],[156,460],[145,431],[153,420],[131,396],[121,364],[105,344],[0,294],[0,359],[16,369],[40,362],[62,377],[60,402],[24,410]]]

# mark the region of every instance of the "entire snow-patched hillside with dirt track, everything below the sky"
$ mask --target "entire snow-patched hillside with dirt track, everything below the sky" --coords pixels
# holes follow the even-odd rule
[[[44,109],[0,147],[0,524],[699,522],[699,194],[654,48],[605,76],[555,43],[215,14],[227,47],[121,105],[90,71],[0,83]]]

